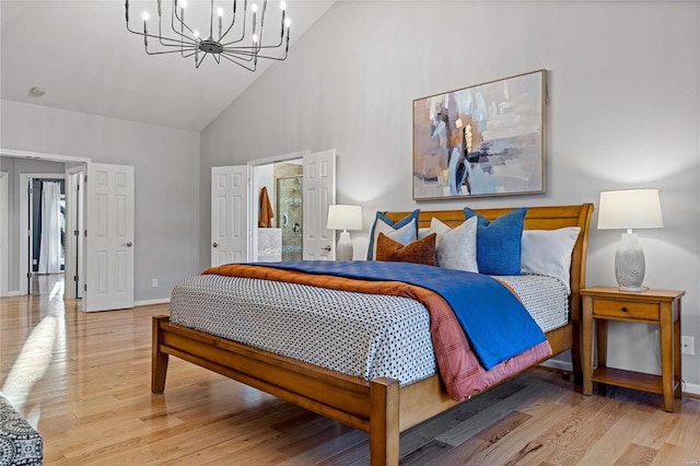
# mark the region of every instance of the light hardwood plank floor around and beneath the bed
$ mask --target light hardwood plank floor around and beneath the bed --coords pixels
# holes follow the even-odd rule
[[[47,287],[52,290],[54,287]],[[366,464],[366,434],[171,358],[150,392],[151,316],[0,299],[0,391],[37,426],[46,465]],[[411,465],[698,465],[700,400],[583,396],[533,369],[401,434]]]

